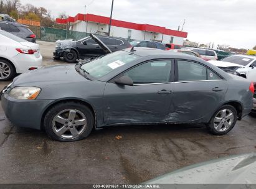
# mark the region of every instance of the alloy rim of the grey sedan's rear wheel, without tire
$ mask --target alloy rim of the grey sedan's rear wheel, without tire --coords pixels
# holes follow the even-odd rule
[[[227,131],[232,126],[234,118],[234,113],[230,109],[221,109],[214,118],[214,128],[219,132]]]

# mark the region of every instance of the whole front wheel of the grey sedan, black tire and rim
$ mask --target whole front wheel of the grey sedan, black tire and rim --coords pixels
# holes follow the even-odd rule
[[[55,141],[85,139],[93,129],[94,117],[85,104],[75,101],[59,103],[45,115],[44,129]]]

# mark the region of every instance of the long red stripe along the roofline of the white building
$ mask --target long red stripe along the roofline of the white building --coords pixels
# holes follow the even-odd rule
[[[110,17],[98,16],[95,14],[77,14],[75,17],[69,17],[68,19],[56,19],[58,24],[67,24],[68,22],[76,21],[88,21],[88,22],[97,22],[100,24],[109,24]],[[111,25],[116,27],[124,27],[127,29],[135,29],[147,32],[156,32],[159,34],[173,35],[177,37],[187,37],[187,32],[181,32],[178,30],[166,29],[165,27],[150,25],[150,24],[136,24],[133,22],[118,21],[112,19]]]

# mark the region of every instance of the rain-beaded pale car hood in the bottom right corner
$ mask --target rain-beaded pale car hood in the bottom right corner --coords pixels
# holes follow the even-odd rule
[[[237,155],[167,173],[146,184],[256,184],[256,154]]]

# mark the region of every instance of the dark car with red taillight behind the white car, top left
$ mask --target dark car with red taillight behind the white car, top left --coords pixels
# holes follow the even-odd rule
[[[27,27],[27,25],[19,24],[17,22],[0,21],[0,29],[29,42],[36,43],[36,35]]]

